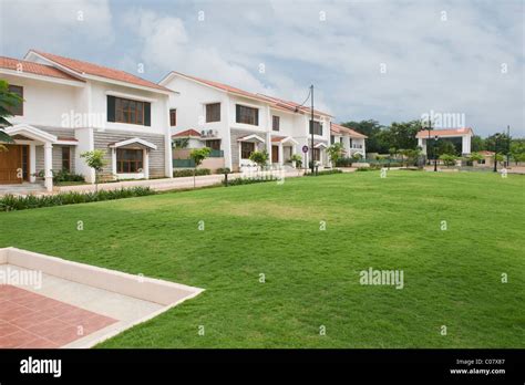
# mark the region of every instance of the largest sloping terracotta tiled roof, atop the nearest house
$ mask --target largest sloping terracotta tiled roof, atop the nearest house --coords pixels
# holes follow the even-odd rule
[[[110,69],[110,67],[102,66],[99,64],[92,64],[92,63],[83,62],[80,60],[59,56],[52,53],[47,53],[47,52],[41,52],[41,51],[35,51],[35,50],[31,50],[30,52],[34,52],[56,64],[63,65],[68,67],[69,70],[76,72],[79,75],[82,75],[82,74],[95,75],[95,76],[106,77],[106,79],[131,83],[135,85],[142,85],[150,89],[171,91],[166,87],[163,87],[162,85],[146,81],[142,77],[132,75],[131,73],[127,73],[121,70]]]

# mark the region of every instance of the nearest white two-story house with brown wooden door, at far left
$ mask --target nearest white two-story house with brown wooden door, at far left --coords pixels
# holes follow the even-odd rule
[[[23,60],[0,58],[1,79],[23,97],[0,152],[0,184],[44,179],[66,170],[94,181],[81,154],[102,149],[101,175],[172,177],[168,104],[173,92],[130,73],[30,50]]]

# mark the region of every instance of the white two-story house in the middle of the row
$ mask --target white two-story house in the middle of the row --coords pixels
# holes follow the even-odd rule
[[[249,156],[255,150],[266,150],[276,165],[289,163],[294,154],[302,154],[303,164],[309,163],[312,152],[303,154],[302,147],[311,147],[310,108],[178,72],[158,84],[177,91],[169,96],[175,137],[191,129],[193,141],[224,154],[225,167],[253,167]],[[313,160],[321,166],[328,166],[330,119],[315,111]]]

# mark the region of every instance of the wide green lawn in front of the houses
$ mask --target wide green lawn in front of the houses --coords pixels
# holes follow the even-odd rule
[[[294,178],[0,214],[0,247],[206,289],[103,347],[525,347],[524,191],[492,173]],[[369,267],[404,289],[361,285]]]

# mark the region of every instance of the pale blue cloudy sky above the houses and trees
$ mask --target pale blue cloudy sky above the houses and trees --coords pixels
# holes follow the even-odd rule
[[[7,56],[34,48],[297,102],[313,83],[338,122],[433,111],[464,114],[483,136],[507,124],[525,136],[522,0],[0,0],[0,22]]]

